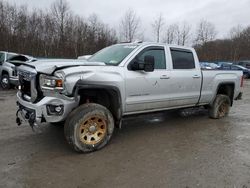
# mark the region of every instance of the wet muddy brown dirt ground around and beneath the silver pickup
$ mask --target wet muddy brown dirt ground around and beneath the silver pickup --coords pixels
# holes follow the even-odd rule
[[[0,91],[0,187],[250,188],[250,81],[221,120],[205,110],[130,118],[110,144],[77,154],[63,127],[15,124],[15,91]]]

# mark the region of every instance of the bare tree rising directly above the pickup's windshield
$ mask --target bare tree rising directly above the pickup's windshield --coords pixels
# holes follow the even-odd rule
[[[140,18],[136,12],[129,9],[120,21],[120,38],[125,41],[133,41],[138,33]]]

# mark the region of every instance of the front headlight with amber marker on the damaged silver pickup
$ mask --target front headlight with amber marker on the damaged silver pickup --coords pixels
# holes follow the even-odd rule
[[[44,90],[63,90],[63,78],[61,77],[41,74],[39,82]]]

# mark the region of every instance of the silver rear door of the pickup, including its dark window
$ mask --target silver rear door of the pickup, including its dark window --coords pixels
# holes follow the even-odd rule
[[[168,80],[169,106],[193,106],[198,103],[202,82],[198,58],[194,52],[182,48],[169,48],[171,74]]]

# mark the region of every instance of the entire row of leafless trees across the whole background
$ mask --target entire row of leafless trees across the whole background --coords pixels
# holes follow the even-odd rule
[[[118,42],[144,40],[142,20],[133,9],[119,19],[116,29],[96,14],[75,15],[67,0],[56,0],[49,10],[28,11],[26,6],[0,0],[0,49],[35,57],[75,58]],[[192,28],[187,22],[167,24],[162,14],[151,22],[155,42],[193,46],[201,61],[250,59],[250,26],[233,27],[225,39],[207,20]]]

